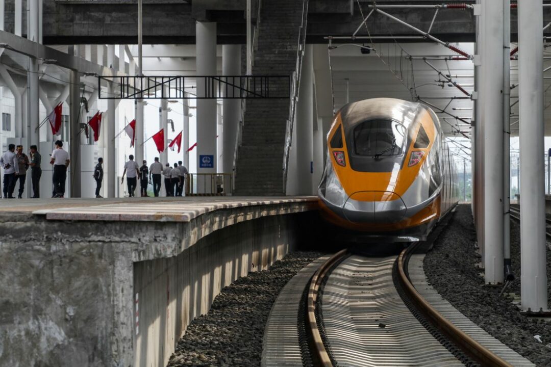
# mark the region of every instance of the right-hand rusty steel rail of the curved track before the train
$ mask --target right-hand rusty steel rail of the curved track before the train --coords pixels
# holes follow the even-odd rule
[[[409,248],[403,250],[398,256],[398,281],[409,299],[412,300],[415,308],[417,308],[426,317],[426,319],[431,322],[431,324],[444,333],[447,338],[453,341],[456,346],[460,347],[463,352],[471,355],[471,357],[476,359],[483,366],[512,367],[511,364],[507,363],[487,348],[484,348],[460,328],[453,325],[449,320],[436,311],[433,306],[431,306],[430,303],[419,294],[419,292],[417,292],[417,289],[415,289],[413,284],[409,281],[406,271],[404,270],[406,261],[413,253],[412,248],[413,247],[410,246]]]

